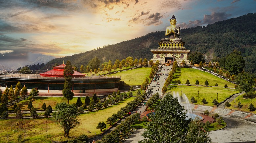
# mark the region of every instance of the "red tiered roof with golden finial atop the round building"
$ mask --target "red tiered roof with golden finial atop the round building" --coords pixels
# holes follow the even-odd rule
[[[45,76],[45,77],[64,77],[63,72],[64,72],[64,67],[66,65],[61,64],[59,66],[55,66],[53,67],[52,70],[44,72],[44,73],[40,73],[40,76]],[[73,70],[74,71],[74,70]],[[71,75],[72,77],[85,77],[85,74],[82,74],[78,71],[74,71],[74,74]]]

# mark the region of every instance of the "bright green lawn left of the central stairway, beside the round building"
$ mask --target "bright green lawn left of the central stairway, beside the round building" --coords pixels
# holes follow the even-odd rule
[[[151,68],[137,68],[133,70],[127,70],[110,74],[108,76],[121,76],[121,80],[128,85],[141,85],[145,78],[149,78]]]

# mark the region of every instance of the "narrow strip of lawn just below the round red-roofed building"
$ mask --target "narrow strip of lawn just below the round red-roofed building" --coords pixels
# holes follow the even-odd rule
[[[74,97],[72,100],[69,101],[70,104],[72,103],[76,103],[78,97]],[[80,97],[82,103],[84,103],[85,97]],[[90,98],[91,99],[91,98]],[[21,110],[29,110],[28,107],[28,103],[29,101],[32,101],[32,104],[34,106],[34,108],[36,110],[43,110],[41,107],[43,105],[43,103],[46,104],[46,107],[48,105],[51,105],[51,107],[53,108],[53,110],[55,109],[55,105],[56,103],[61,103],[61,102],[66,102],[67,100],[65,97],[43,97],[43,96],[35,96],[34,100],[32,99],[32,97],[26,98],[25,100],[20,101],[19,103],[17,103],[17,106],[20,107]],[[13,106],[8,107],[9,110],[13,110]]]

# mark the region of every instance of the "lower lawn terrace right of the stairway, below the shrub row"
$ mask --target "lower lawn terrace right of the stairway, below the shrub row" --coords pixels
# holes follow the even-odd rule
[[[214,106],[212,101],[215,98],[217,100],[218,93],[218,102],[224,101],[227,97],[232,94],[239,93],[236,89],[229,88],[220,88],[220,87],[205,87],[205,86],[185,86],[185,85],[172,85],[169,86],[168,92],[173,94],[173,91],[178,92],[181,95],[181,90],[183,94],[186,94],[189,102],[192,96],[194,96],[195,100],[197,100],[198,105],[203,105],[201,102],[203,98],[208,102],[205,104],[206,106]],[[199,91],[199,94],[198,94]],[[199,98],[198,98],[199,95]],[[190,104],[192,104],[190,102]]]

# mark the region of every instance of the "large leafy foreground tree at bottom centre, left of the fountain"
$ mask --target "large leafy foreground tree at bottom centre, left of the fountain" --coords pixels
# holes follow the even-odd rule
[[[143,139],[139,143],[153,142],[184,142],[187,132],[186,113],[184,107],[171,94],[165,95],[155,109],[155,115],[150,114],[151,121],[145,124]],[[170,116],[171,115],[171,116]]]

